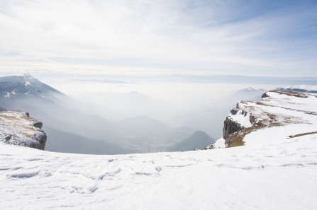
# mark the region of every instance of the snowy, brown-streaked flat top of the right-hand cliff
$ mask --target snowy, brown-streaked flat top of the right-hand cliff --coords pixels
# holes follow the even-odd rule
[[[261,101],[241,101],[237,107],[240,109],[237,116],[230,114],[229,117],[244,127],[250,127],[250,115],[255,118],[255,122],[261,122],[267,127],[317,123],[316,93],[268,91]]]

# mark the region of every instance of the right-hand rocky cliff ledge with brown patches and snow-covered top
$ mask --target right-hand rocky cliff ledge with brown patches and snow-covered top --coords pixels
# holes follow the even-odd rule
[[[230,110],[223,125],[223,138],[208,148],[244,145],[245,135],[257,129],[317,121],[317,94],[295,91],[267,91],[262,100],[240,101]]]

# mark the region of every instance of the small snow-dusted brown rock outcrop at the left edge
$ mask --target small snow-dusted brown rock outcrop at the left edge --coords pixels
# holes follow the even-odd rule
[[[44,150],[47,136],[42,125],[30,118],[28,112],[0,112],[0,141]]]

